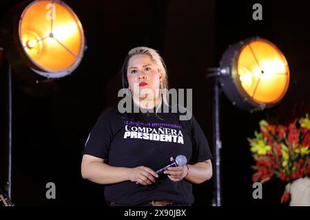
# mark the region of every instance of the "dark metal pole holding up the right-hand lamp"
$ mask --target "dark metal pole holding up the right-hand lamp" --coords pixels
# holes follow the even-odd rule
[[[218,76],[214,77],[214,160],[215,160],[215,181],[214,181],[214,199],[213,206],[221,206],[221,190],[220,190],[220,85]]]

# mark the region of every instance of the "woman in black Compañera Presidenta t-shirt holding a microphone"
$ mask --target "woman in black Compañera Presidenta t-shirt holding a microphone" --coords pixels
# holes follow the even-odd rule
[[[207,139],[192,117],[159,113],[169,106],[167,73],[161,56],[148,47],[128,53],[122,69],[123,87],[139,113],[109,109],[92,129],[83,152],[83,178],[105,184],[111,206],[190,206],[192,184],[212,176]],[[156,170],[185,155],[189,164]]]

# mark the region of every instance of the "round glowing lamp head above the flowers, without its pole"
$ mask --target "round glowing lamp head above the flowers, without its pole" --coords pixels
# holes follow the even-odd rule
[[[273,107],[289,87],[286,58],[265,39],[247,39],[231,45],[223,54],[220,69],[223,90],[240,109],[256,111]]]

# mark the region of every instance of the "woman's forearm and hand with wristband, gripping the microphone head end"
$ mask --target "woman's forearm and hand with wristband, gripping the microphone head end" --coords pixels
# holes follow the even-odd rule
[[[172,181],[186,179],[193,184],[201,184],[212,177],[211,159],[198,162],[194,165],[187,164],[184,166],[169,167],[164,173],[167,174]]]

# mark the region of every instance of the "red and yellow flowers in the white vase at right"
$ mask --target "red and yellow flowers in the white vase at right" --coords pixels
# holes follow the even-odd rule
[[[269,124],[261,120],[260,132],[248,138],[255,166],[252,181],[264,183],[272,178],[287,181],[281,203],[289,200],[289,186],[292,181],[310,177],[310,120],[296,118],[288,126]]]

